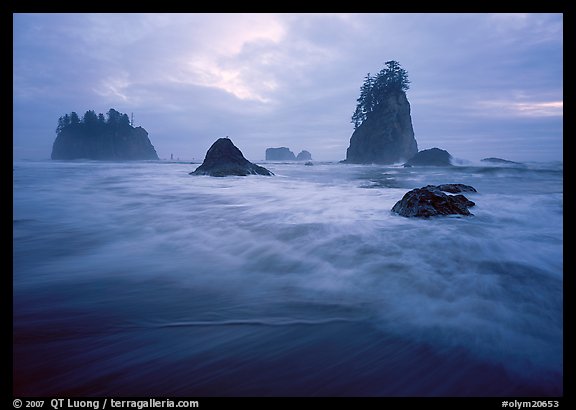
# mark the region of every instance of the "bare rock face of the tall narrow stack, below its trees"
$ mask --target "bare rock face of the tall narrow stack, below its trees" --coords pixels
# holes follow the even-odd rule
[[[342,162],[352,164],[395,164],[418,152],[414,138],[410,103],[406,93],[397,90],[360,124],[352,137]]]

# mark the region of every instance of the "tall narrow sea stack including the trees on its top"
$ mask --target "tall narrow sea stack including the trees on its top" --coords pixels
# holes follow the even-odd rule
[[[396,61],[386,62],[375,77],[366,76],[352,115],[355,129],[343,162],[394,164],[418,152],[406,97],[408,84],[406,71]]]

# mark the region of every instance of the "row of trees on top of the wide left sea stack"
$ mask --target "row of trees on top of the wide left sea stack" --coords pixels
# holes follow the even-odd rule
[[[65,114],[58,119],[58,127],[56,127],[56,134],[60,134],[63,130],[74,128],[87,132],[103,131],[106,129],[119,129],[130,127],[130,119],[127,114],[122,114],[113,108],[110,108],[104,114],[96,114],[94,110],[88,110],[84,116],[80,118],[78,114],[72,111],[70,114]]]

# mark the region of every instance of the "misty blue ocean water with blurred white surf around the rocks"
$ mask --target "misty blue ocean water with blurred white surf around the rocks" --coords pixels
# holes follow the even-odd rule
[[[14,394],[563,394],[562,163],[263,165],[15,161]]]

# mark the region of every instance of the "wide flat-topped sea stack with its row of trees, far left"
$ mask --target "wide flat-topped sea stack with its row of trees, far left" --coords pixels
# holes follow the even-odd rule
[[[158,160],[158,154],[142,127],[134,127],[128,115],[110,109],[107,118],[93,110],[80,118],[72,112],[58,120],[53,160]]]

